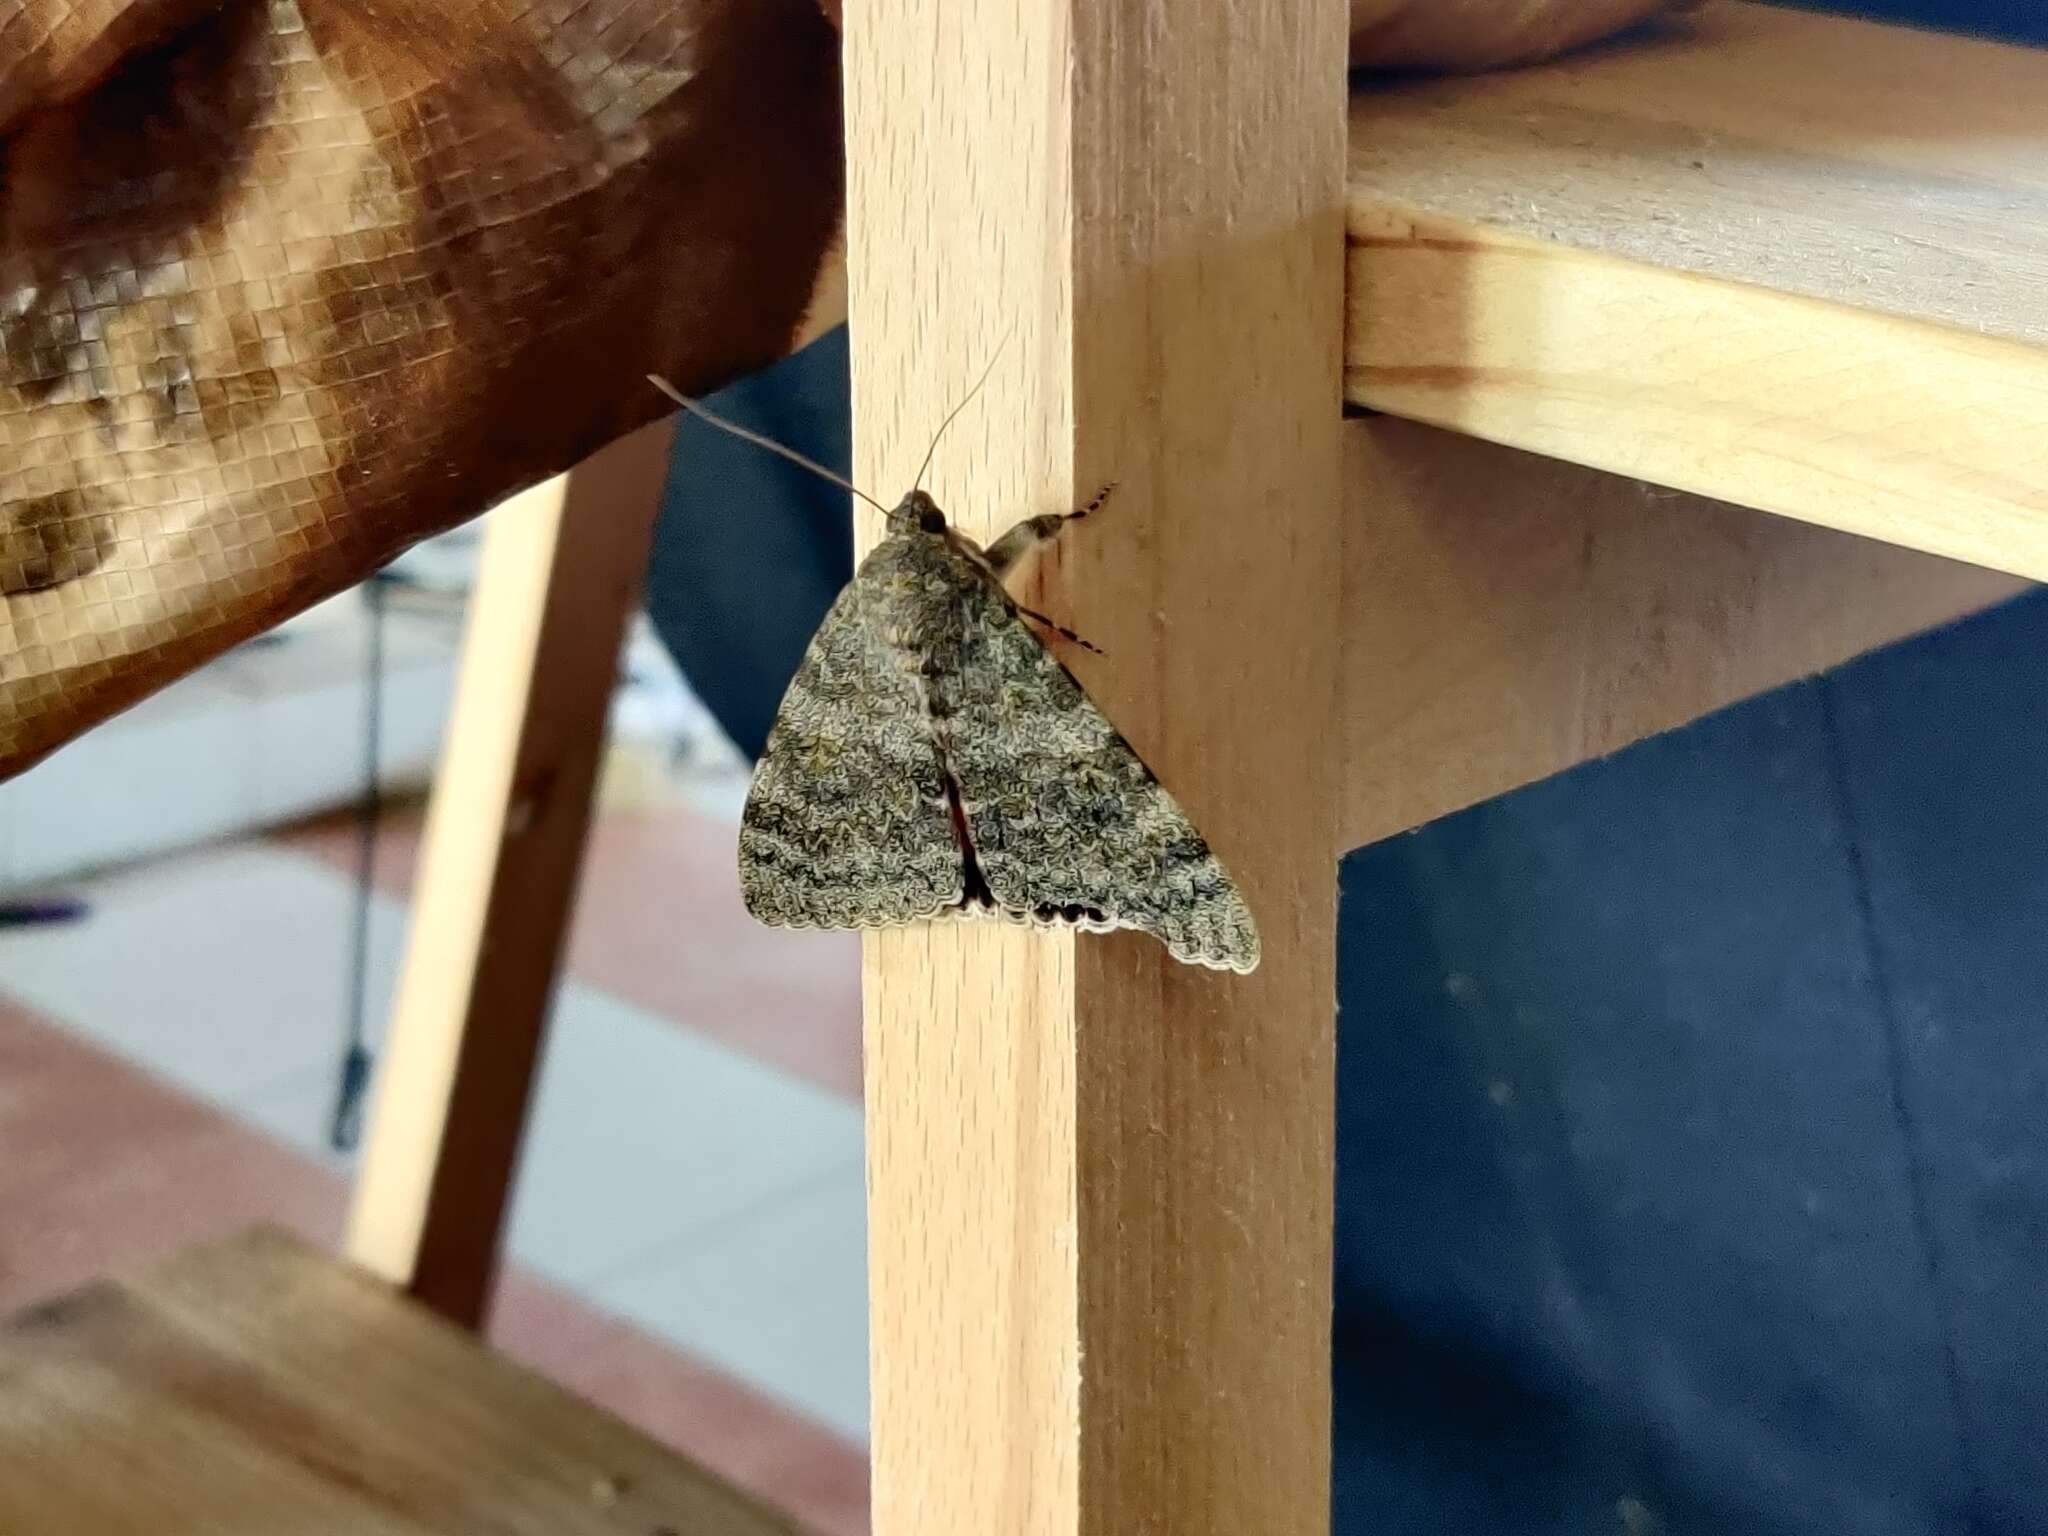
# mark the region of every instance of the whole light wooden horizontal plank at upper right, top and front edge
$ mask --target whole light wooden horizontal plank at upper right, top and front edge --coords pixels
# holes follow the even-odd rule
[[[1362,406],[2048,575],[2048,51],[1716,0],[1352,102]]]

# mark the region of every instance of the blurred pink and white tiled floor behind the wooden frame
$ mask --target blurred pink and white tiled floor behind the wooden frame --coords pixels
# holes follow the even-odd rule
[[[373,1022],[416,838],[379,848]],[[352,860],[184,854],[0,932],[0,1305],[256,1219],[332,1241]],[[494,1339],[831,1536],[866,1528],[858,1081],[858,948],[754,926],[719,817],[600,817]]]

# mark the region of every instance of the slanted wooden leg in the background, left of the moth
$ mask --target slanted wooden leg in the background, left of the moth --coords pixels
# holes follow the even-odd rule
[[[672,420],[508,502],[485,537],[348,1255],[475,1327],[575,903],[618,647]]]

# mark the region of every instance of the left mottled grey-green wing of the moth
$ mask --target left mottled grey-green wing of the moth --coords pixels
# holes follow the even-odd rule
[[[965,889],[924,690],[889,643],[874,569],[805,651],[739,819],[739,891],[780,928],[918,922]]]

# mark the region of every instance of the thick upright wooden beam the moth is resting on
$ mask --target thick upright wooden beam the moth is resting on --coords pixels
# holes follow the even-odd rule
[[[1329,1528],[1343,16],[848,6],[858,473],[1010,336],[928,485],[1120,483],[1040,600],[1266,940],[870,938],[879,1536]]]

